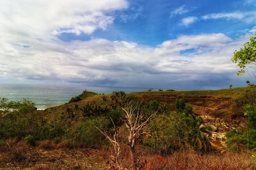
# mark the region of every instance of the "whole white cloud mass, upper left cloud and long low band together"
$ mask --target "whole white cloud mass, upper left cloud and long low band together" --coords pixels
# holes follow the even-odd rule
[[[230,57],[247,37],[187,35],[154,48],[106,39],[63,42],[56,36],[60,32],[90,34],[104,29],[114,19],[108,13],[127,6],[123,0],[1,1],[0,81],[17,78],[167,87],[175,81],[202,82],[213,74],[236,75]],[[184,24],[197,18],[192,20]]]

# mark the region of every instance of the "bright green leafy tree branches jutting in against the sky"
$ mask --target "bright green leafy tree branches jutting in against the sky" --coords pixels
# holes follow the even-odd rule
[[[250,41],[244,43],[243,48],[234,52],[232,62],[237,63],[240,67],[240,71],[237,73],[239,76],[245,73],[246,65],[256,62],[256,34],[250,38]]]

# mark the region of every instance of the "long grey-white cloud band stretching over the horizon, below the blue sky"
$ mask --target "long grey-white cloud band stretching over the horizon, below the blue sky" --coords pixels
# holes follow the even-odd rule
[[[236,75],[230,57],[246,38],[233,40],[221,33],[180,36],[156,48],[106,39],[70,43],[35,39],[24,48],[0,38],[4,46],[0,48],[0,75],[123,87],[204,81],[211,74]],[[193,52],[183,53],[189,49]]]

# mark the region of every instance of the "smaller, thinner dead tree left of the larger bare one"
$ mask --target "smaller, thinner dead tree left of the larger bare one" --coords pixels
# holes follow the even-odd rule
[[[112,118],[111,121],[115,127],[115,134],[113,134],[113,138],[111,138],[106,132],[101,131],[98,127],[96,127],[102,134],[109,140],[111,145],[113,145],[113,155],[110,156],[111,161],[113,162],[113,168],[112,169],[122,169],[122,164],[120,162],[120,143],[119,143],[119,137],[118,137],[118,129],[115,126]]]

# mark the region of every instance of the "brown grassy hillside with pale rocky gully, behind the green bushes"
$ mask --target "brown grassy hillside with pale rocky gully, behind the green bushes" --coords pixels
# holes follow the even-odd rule
[[[163,106],[168,106],[170,110],[175,110],[175,101],[184,99],[193,108],[195,115],[201,117],[204,123],[201,127],[210,127],[210,131],[205,132],[211,145],[217,150],[225,150],[225,134],[235,128],[244,127],[244,118],[236,117],[234,113],[234,100],[246,92],[248,87],[221,90],[191,90],[191,91],[163,91],[163,92],[131,92],[127,97],[148,103],[158,101]],[[63,104],[45,110],[51,113],[62,113],[67,110],[77,110],[86,104],[105,105],[104,97],[110,101],[110,94],[81,94],[81,101]],[[107,104],[108,105],[108,104]]]

